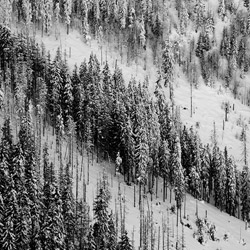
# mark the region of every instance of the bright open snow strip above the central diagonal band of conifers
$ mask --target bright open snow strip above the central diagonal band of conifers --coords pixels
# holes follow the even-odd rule
[[[155,82],[157,80],[157,68],[153,65],[150,56],[147,60],[147,70],[143,69],[142,63],[136,65],[133,63],[127,66],[121,62],[121,56],[117,53],[112,44],[103,44],[102,49],[96,40],[91,40],[85,44],[78,31],[73,30],[69,35],[66,34],[64,28],[61,28],[60,37],[58,40],[53,35],[41,37],[37,33],[36,40],[38,43],[44,43],[46,50],[50,51],[52,58],[55,56],[58,47],[62,52],[66,52],[67,62],[70,69],[77,64],[80,66],[85,59],[88,60],[93,52],[97,55],[102,63],[107,61],[112,68],[115,64],[122,69],[125,82],[128,83],[132,77],[137,81],[144,81],[148,76],[150,82],[150,90],[153,93]],[[126,61],[123,58],[123,62]],[[112,70],[111,68],[111,70]],[[210,143],[210,137],[214,128],[214,123],[217,129],[218,145],[221,149],[225,146],[230,155],[234,156],[239,168],[242,167],[242,151],[243,143],[240,141],[240,133],[242,125],[249,126],[250,109],[243,105],[239,100],[234,99],[231,92],[225,89],[220,82],[217,82],[214,87],[205,86],[200,76],[198,79],[198,88],[193,88],[193,114],[191,117],[191,91],[190,85],[185,76],[181,72],[175,72],[174,98],[176,105],[180,106],[181,121],[183,125],[196,127],[201,137],[203,144]],[[168,89],[165,89],[166,96],[169,96]],[[228,121],[225,122],[223,130],[223,119],[225,120],[225,110],[223,103],[230,104]],[[247,145],[250,147],[250,135],[247,129]],[[250,160],[250,155],[248,156]]]

